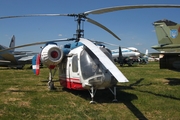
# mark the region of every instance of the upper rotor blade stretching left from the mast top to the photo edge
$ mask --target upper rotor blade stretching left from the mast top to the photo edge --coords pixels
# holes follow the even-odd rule
[[[39,17],[39,16],[71,16],[71,15],[69,14],[27,14],[27,15],[4,16],[4,17],[0,17],[0,19],[19,18],[19,17]]]

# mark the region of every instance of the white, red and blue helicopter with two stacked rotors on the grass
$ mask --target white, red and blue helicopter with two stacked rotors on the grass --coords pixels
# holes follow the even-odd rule
[[[45,44],[40,54],[36,55],[33,59],[33,70],[39,74],[39,63],[42,62],[46,65],[49,72],[49,87],[53,88],[53,75],[52,70],[59,69],[59,80],[63,87],[84,90],[87,89],[91,95],[94,103],[94,95],[96,90],[109,88],[116,99],[116,85],[118,82],[128,82],[127,78],[120,72],[120,70],[112,62],[112,55],[109,50],[104,46],[96,45],[84,37],[84,30],[81,28],[81,23],[85,20],[95,24],[102,29],[112,34],[115,38],[120,38],[115,35],[111,30],[102,24],[87,17],[89,14],[103,14],[118,10],[137,9],[137,8],[180,8],[180,5],[134,5],[134,6],[116,6],[109,8],[102,8],[91,10],[80,14],[30,14],[18,16],[5,16],[0,19],[6,18],[19,18],[19,17],[33,17],[33,16],[70,16],[76,18],[77,30],[76,37],[69,39],[59,39],[46,42],[38,42],[17,46],[15,48]],[[74,43],[64,45],[61,49],[55,42],[61,41],[75,41]],[[12,48],[13,49],[13,48]],[[111,89],[114,88],[114,89]]]

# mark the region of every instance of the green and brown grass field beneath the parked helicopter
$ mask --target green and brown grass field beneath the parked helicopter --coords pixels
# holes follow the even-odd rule
[[[117,65],[119,67],[119,65]],[[158,62],[119,67],[130,81],[117,86],[117,103],[109,90],[99,90],[96,104],[89,104],[88,91],[72,91],[55,82],[47,87],[48,70],[40,76],[31,69],[0,68],[0,119],[3,120],[178,120],[180,78],[178,71],[159,69]],[[55,78],[58,79],[58,76]]]

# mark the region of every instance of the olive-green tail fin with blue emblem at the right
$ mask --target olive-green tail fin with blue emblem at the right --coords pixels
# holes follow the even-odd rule
[[[170,20],[159,20],[154,22],[158,43],[160,45],[179,44],[180,24]]]

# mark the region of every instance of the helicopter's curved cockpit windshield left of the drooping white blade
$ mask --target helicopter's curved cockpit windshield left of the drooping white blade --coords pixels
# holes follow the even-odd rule
[[[102,75],[99,65],[85,50],[83,50],[80,54],[80,66],[84,80],[87,80],[94,75]]]

